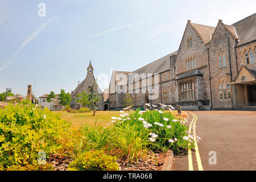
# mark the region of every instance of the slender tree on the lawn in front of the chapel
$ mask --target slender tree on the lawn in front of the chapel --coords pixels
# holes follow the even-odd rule
[[[95,116],[95,112],[97,109],[96,102],[100,101],[101,98],[98,97],[98,92],[96,91],[96,81],[94,81],[92,86],[88,86],[87,92],[88,92],[88,101],[90,109],[93,110],[93,116]]]

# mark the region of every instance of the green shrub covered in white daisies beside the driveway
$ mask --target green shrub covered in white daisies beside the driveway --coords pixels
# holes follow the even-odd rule
[[[166,107],[162,105],[162,108]],[[186,133],[188,127],[185,119],[176,118],[170,111],[137,109],[133,113],[121,114],[122,119],[114,118],[114,127],[134,126],[134,130],[147,130],[147,147],[151,150],[167,151],[172,148],[179,152],[181,148],[193,148],[193,136]]]

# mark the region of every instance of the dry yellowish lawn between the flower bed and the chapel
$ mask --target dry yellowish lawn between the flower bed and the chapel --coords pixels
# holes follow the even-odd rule
[[[84,125],[85,123],[94,126],[96,120],[96,126],[105,127],[113,120],[111,117],[120,117],[120,114],[122,114],[119,111],[96,111],[96,116],[92,116],[92,111],[90,113],[68,113],[67,111],[55,111],[55,113],[60,113],[60,117],[71,122],[74,127]],[[177,111],[172,111],[172,114],[177,114]]]

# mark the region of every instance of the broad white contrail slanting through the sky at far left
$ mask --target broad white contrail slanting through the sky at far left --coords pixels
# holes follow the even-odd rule
[[[28,36],[27,39],[24,40],[24,42],[20,45],[19,49],[14,53],[13,56],[0,68],[0,72],[3,71],[3,69],[9,67],[9,65],[13,62],[15,57],[18,55],[18,53],[23,49],[24,46],[26,46],[27,43],[29,43],[31,40],[33,40],[44,28],[46,28],[47,24],[49,24],[53,19],[56,17],[53,16],[52,18],[48,19],[46,23],[43,23],[39,28],[36,28],[30,36]]]

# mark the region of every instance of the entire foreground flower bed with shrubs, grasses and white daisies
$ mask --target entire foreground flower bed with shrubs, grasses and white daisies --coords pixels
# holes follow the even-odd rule
[[[28,101],[6,106],[0,110],[0,170],[159,170],[164,152],[192,148],[200,138],[187,134],[188,122],[172,114],[172,106],[147,106],[125,108],[109,127],[75,129]]]

